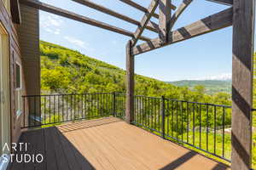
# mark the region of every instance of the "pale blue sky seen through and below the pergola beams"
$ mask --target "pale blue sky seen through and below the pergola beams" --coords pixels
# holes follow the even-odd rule
[[[150,0],[133,1],[144,7],[148,7],[150,3]],[[137,29],[137,26],[128,22],[115,19],[108,14],[103,14],[72,1],[63,3],[63,1],[42,0],[42,2],[83,14],[95,20],[105,21],[110,25],[119,26],[132,32]],[[93,2],[112,8],[136,20],[141,20],[143,17],[142,12],[119,2],[119,0],[93,0]],[[182,0],[172,2],[178,6]],[[177,20],[174,29],[187,26],[210,14],[218,13],[224,8],[229,7],[205,0],[195,1]],[[157,20],[154,21],[157,22]],[[150,31],[144,31],[143,35],[152,38],[158,36]],[[40,38],[47,42],[76,49],[82,54],[125,69],[125,44],[130,37],[41,11]],[[229,77],[231,74],[231,56],[232,28],[229,27],[137,55],[135,70],[137,74],[154,77],[162,81]]]

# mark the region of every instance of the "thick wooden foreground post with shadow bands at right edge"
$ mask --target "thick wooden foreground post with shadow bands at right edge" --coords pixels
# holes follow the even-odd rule
[[[234,0],[232,170],[252,167],[254,0]]]

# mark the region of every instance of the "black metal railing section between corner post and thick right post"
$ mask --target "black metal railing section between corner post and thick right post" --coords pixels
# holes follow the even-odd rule
[[[230,161],[230,106],[136,96],[134,123],[164,139]]]

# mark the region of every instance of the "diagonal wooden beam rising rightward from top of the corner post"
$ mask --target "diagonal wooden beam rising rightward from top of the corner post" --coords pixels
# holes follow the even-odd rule
[[[148,7],[148,12],[143,15],[143,20],[141,21],[141,26],[137,27],[137,30],[134,33],[134,38],[131,40],[131,47],[135,46],[138,39],[142,36],[143,31],[145,27],[148,24],[148,21],[150,20],[152,14],[154,14],[155,9],[158,6],[159,0],[152,0],[149,7]]]

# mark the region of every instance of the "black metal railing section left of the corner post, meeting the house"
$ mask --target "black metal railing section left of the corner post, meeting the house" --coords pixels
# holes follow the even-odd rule
[[[123,94],[50,94],[23,96],[22,128],[104,116],[124,116]]]

